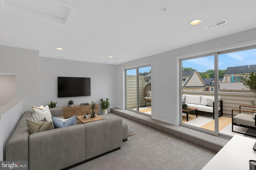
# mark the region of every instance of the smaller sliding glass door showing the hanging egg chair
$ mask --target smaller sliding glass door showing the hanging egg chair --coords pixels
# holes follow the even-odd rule
[[[127,69],[126,109],[151,115],[151,66]]]

